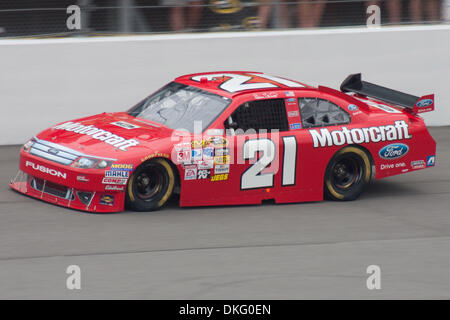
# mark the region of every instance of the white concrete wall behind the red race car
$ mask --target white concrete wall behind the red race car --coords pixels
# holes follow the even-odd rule
[[[436,93],[450,125],[450,26],[0,40],[0,145],[59,121],[121,111],[178,75],[252,70],[338,88],[350,73]]]

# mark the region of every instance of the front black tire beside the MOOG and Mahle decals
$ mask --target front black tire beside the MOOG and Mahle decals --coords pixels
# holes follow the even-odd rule
[[[164,159],[153,159],[140,165],[127,186],[127,205],[134,211],[160,209],[172,195],[175,175]]]

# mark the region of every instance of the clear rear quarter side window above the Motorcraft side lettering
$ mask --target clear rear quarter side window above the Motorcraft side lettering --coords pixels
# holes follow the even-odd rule
[[[299,98],[303,128],[350,123],[350,115],[334,103],[319,98]]]

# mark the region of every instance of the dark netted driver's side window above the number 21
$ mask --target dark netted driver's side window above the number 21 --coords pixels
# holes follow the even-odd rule
[[[228,119],[233,129],[289,130],[284,99],[255,100],[240,105]],[[227,126],[227,123],[226,123]]]

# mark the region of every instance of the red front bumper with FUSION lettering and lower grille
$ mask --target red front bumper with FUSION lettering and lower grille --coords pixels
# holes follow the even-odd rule
[[[20,169],[10,187],[71,209],[99,213],[123,211],[126,185],[105,185],[103,178],[104,170],[71,168],[22,150]]]

